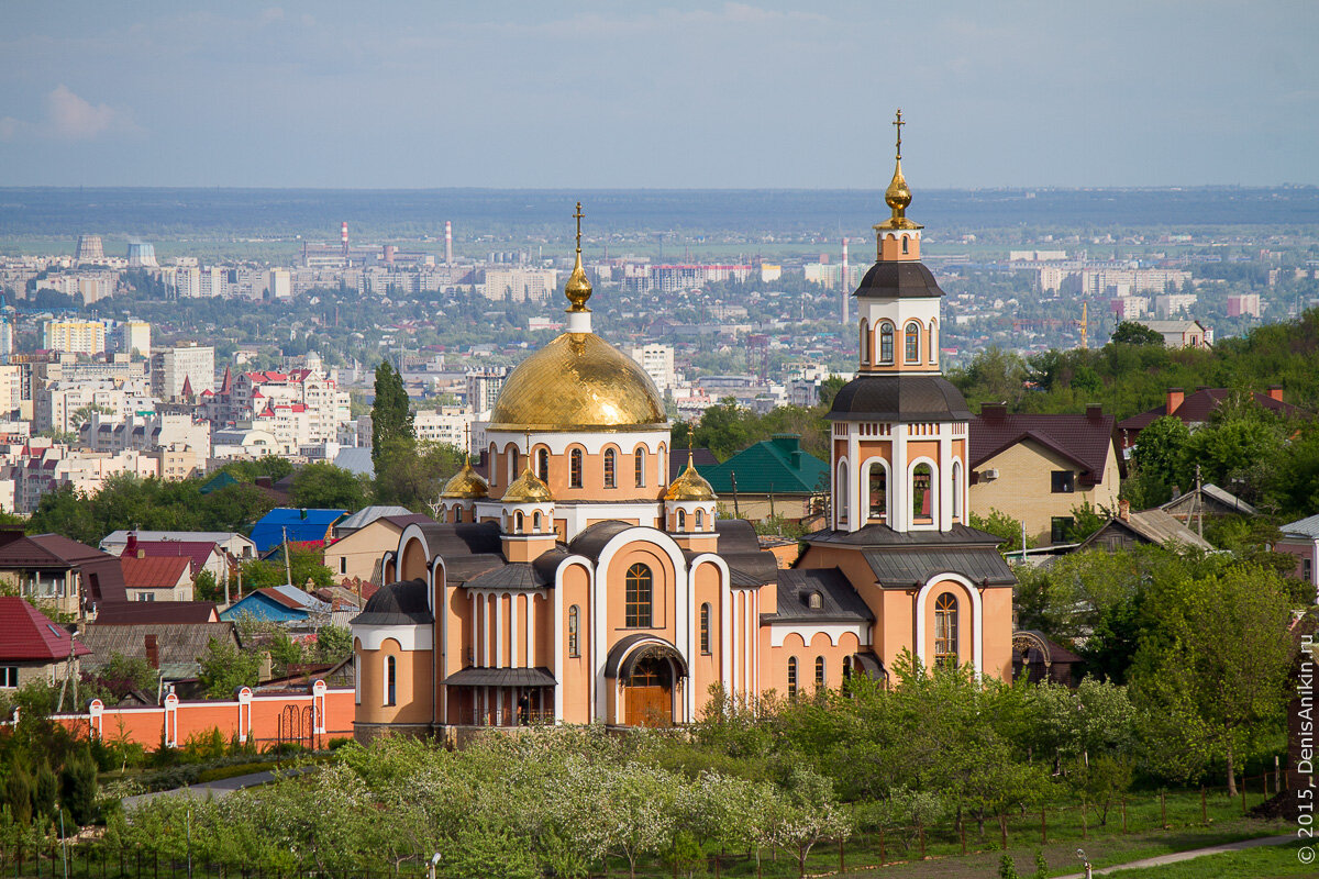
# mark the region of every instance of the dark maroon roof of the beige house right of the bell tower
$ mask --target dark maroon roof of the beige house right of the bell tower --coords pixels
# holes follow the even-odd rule
[[[1097,409],[1086,415],[1009,415],[997,406],[983,406],[969,426],[971,468],[1029,440],[1072,461],[1084,484],[1097,485],[1115,445],[1113,428],[1113,416]]]

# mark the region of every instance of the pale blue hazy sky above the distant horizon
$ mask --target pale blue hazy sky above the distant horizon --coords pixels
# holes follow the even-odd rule
[[[1319,183],[1319,3],[0,3],[0,186]]]

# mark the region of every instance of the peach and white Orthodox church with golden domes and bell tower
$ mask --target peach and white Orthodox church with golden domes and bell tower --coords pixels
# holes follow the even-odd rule
[[[1012,673],[1014,579],[967,526],[962,394],[939,370],[943,291],[906,216],[901,112],[890,217],[859,303],[856,378],[830,411],[828,527],[790,569],[710,484],[667,482],[654,383],[595,335],[591,285],[565,286],[567,331],[508,377],[442,522],[410,525],[352,621],[356,734],[525,722],[695,720],[714,685],[739,700],[926,666]]]

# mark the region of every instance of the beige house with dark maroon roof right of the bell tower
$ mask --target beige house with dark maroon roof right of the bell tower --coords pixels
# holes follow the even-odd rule
[[[1013,415],[985,403],[972,419],[971,511],[998,510],[1042,544],[1066,543],[1072,510],[1116,509],[1122,476],[1113,416],[1099,406],[1084,415]]]

